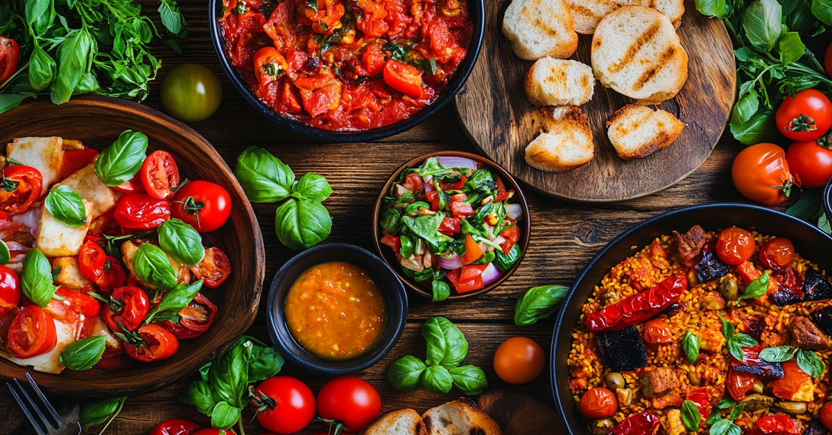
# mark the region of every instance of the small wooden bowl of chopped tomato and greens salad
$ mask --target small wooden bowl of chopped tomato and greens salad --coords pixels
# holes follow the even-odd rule
[[[384,184],[373,212],[379,255],[433,302],[503,284],[526,254],[530,229],[517,181],[493,161],[462,151],[405,163]]]

